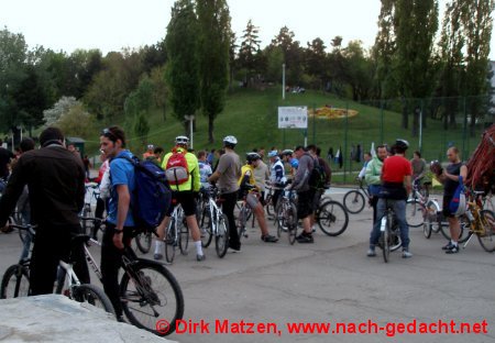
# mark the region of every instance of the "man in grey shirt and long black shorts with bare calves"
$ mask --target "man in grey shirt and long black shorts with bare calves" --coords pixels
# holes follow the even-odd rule
[[[309,177],[315,168],[315,158],[304,146],[297,146],[294,154],[299,161],[299,166],[290,189],[297,192],[297,218],[302,221],[302,233],[296,240],[299,243],[314,243],[311,214],[315,190],[309,186]]]

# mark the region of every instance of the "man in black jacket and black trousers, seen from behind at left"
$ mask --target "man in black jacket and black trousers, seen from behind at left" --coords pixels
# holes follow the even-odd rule
[[[30,266],[32,296],[53,292],[58,262],[67,261],[72,234],[80,232],[78,213],[85,198],[82,162],[65,148],[61,130],[44,130],[40,144],[40,150],[19,158],[0,200],[0,226],[4,226],[28,185],[32,223],[37,224]],[[77,276],[89,283],[82,246],[75,247],[73,254]]]

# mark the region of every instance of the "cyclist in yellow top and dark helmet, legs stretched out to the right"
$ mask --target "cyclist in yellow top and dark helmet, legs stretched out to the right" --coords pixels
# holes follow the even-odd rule
[[[261,156],[257,153],[249,153],[246,155],[248,163],[241,168],[241,177],[239,178],[239,192],[241,196],[246,197],[246,202],[254,215],[257,219],[260,229],[262,231],[262,241],[267,243],[275,243],[277,237],[268,234],[268,226],[266,224],[265,211],[257,197],[252,190],[256,189],[256,181],[254,179],[254,168],[261,161]]]

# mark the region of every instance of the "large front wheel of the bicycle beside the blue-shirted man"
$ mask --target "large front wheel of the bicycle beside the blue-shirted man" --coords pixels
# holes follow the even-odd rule
[[[163,265],[140,261],[122,275],[122,309],[138,328],[164,336],[184,314],[184,297],[174,275]]]

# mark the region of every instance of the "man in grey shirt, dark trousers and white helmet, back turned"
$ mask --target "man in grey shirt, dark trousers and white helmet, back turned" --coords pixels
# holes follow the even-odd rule
[[[234,147],[238,140],[229,135],[223,139],[223,147],[226,153],[220,157],[217,169],[208,178],[209,182],[218,180],[218,189],[220,190],[222,202],[222,211],[229,220],[229,247],[234,252],[241,251],[241,241],[235,225],[233,211],[238,201],[238,180],[241,177],[241,159],[235,154]]]

